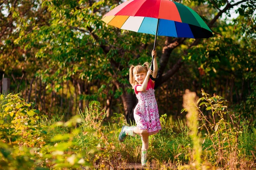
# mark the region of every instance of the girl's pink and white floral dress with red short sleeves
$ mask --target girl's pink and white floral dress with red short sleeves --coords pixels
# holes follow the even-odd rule
[[[158,133],[162,128],[154,95],[154,83],[149,79],[145,91],[137,91],[137,86],[139,85],[134,86],[136,97],[139,100],[134,108],[134,119],[137,127],[140,130],[147,129],[149,135]]]

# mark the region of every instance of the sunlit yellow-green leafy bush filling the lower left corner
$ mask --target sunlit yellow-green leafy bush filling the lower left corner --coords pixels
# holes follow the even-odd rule
[[[86,155],[74,141],[78,116],[50,126],[47,116],[31,109],[18,94],[0,96],[0,165],[5,169],[45,169],[89,166]],[[68,128],[56,133],[55,128]],[[63,130],[61,130],[63,131]],[[63,131],[65,132],[65,131]]]

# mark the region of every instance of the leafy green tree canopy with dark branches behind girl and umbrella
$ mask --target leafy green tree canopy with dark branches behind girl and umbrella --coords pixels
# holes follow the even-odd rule
[[[20,5],[15,6],[16,3]],[[9,27],[12,26],[15,31],[6,32],[4,30],[10,28],[1,26],[1,32],[4,32],[5,36],[1,36],[4,43],[0,49],[1,52],[3,49],[6,52],[0,55],[1,58],[5,59],[0,64],[4,65],[6,62],[11,66],[14,65],[14,60],[17,61],[20,58],[20,62],[15,68],[24,63],[23,71],[28,74],[31,84],[36,73],[36,77],[45,84],[44,91],[47,90],[47,99],[51,99],[52,102],[54,101],[53,98],[57,99],[60,101],[56,103],[58,106],[71,107],[76,112],[76,102],[79,102],[79,108],[82,109],[88,101],[98,100],[105,103],[105,108],[108,111],[123,111],[128,122],[130,119],[133,120],[133,108],[137,99],[128,82],[128,67],[131,64],[137,65],[150,61],[150,49],[152,49],[154,37],[106,26],[100,19],[119,3],[121,2],[116,0],[47,0],[30,3],[22,0],[6,1],[1,4],[1,17],[4,21],[2,25],[9,23]],[[255,27],[250,27],[250,24],[255,23],[255,14],[253,14],[255,2],[253,0],[194,0],[189,4],[181,3],[197,11],[215,32],[215,37],[208,40],[157,38],[161,76],[156,82],[155,88],[159,105],[165,105],[166,101],[176,103],[177,106],[174,109],[179,113],[181,103],[176,101],[182,99],[183,88],[197,90],[207,87],[211,92],[221,93],[227,89],[232,91],[229,94],[230,99],[235,99],[234,96],[237,95],[246,99],[248,94],[243,88],[247,84],[244,83],[244,85],[233,86],[232,88],[232,83],[234,84],[235,81],[232,80],[233,82],[231,82],[231,79],[232,76],[239,74],[239,81],[242,82],[241,70],[253,66],[246,66],[246,63],[243,62],[248,59],[249,55],[255,56],[255,53],[253,50],[248,53],[243,51],[245,46],[239,45],[239,41],[245,39],[242,40],[244,35],[239,36],[241,32],[238,31],[244,29],[246,34],[250,35],[248,45],[252,49],[252,38],[253,35],[255,36],[255,32],[251,29],[255,29]],[[16,15],[13,15],[12,12],[3,15],[3,10],[7,8],[6,4],[12,4],[8,8],[14,8],[18,11]],[[223,14],[231,15],[230,10],[234,7],[238,8],[236,11],[240,13],[242,18],[237,19],[233,25],[227,25],[226,20],[221,20],[221,16]],[[13,16],[15,16],[15,22]],[[243,22],[241,23],[240,20]],[[15,23],[18,24],[15,25]],[[235,26],[236,32],[230,36]],[[13,36],[11,39],[12,46],[5,43],[10,36]],[[230,46],[230,44],[232,45]],[[216,45],[218,45],[218,50]],[[23,52],[18,52],[13,46]],[[230,47],[230,53],[227,53],[227,47]],[[19,55],[15,55],[12,59],[11,54],[7,51],[13,49]],[[23,57],[24,52],[25,57]],[[243,57],[232,60],[237,54]],[[8,56],[9,62],[6,61],[5,55]],[[199,74],[198,67],[202,75]],[[232,68],[236,67],[239,69],[233,73]],[[13,69],[6,66],[5,72],[12,74]],[[18,69],[17,77],[22,75],[20,73],[22,71]],[[187,74],[191,76],[186,77]],[[221,78],[222,74],[227,74],[227,77]],[[219,78],[213,79],[212,77]],[[225,85],[222,84],[227,79],[226,88],[226,83]],[[172,85],[168,83],[169,81],[172,82]],[[63,92],[64,89],[67,89],[67,92]],[[165,95],[163,95],[163,91]],[[175,96],[170,97],[171,93],[175,93]],[[35,94],[35,99],[36,96]],[[65,101],[74,101],[74,106],[72,107],[70,103],[65,103]],[[122,103],[123,108],[120,103]],[[54,105],[49,103],[49,106],[52,108]],[[72,112],[72,109],[71,111],[68,110],[68,113]]]

